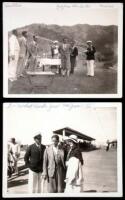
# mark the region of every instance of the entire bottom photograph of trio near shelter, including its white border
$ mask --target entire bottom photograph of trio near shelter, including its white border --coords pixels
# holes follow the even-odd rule
[[[3,197],[121,197],[121,103],[4,103]]]

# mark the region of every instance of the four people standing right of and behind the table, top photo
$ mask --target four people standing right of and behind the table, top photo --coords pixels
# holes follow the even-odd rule
[[[61,66],[58,66],[57,73],[62,74],[63,76],[74,73],[76,67],[76,61],[78,56],[78,47],[75,44],[75,41],[68,43],[66,38],[63,39],[61,45],[56,40],[51,46],[52,58],[60,58]],[[86,50],[83,53],[86,54],[87,60],[87,76],[94,76],[94,67],[95,67],[95,52],[96,49],[92,44],[92,41],[87,41]]]

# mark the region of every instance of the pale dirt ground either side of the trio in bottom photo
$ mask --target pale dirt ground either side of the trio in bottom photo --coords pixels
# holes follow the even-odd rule
[[[117,151],[83,152],[84,192],[117,192]],[[23,165],[23,159],[19,165]],[[8,194],[28,193],[28,169],[8,179]]]

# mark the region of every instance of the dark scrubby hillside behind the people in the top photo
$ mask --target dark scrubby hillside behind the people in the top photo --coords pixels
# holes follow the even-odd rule
[[[44,51],[50,48],[52,40],[62,42],[64,37],[70,41],[76,40],[78,45],[84,45],[87,40],[92,40],[97,49],[97,59],[100,61],[117,62],[118,27],[77,24],[74,26],[59,26],[46,24],[31,24],[18,31],[27,30],[30,34],[40,37],[41,48]],[[81,50],[80,50],[81,51]]]

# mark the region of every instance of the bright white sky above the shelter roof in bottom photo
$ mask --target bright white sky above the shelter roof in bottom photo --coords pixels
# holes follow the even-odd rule
[[[41,132],[43,143],[50,144],[54,130],[70,127],[105,143],[117,138],[116,107],[81,103],[4,104],[4,137],[33,143]]]

